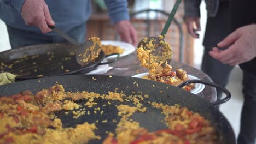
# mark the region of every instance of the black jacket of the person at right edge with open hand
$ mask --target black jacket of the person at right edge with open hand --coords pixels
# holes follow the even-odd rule
[[[255,0],[232,0],[230,4],[230,25],[232,31],[239,27],[256,23]],[[256,76],[256,58],[239,66],[247,73]]]

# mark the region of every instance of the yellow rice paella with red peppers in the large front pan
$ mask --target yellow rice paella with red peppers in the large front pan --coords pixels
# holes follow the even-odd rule
[[[0,143],[216,143],[214,127],[199,113],[179,105],[165,105],[149,101],[150,95],[125,95],[123,92],[66,92],[62,85],[32,93],[22,91],[11,96],[0,97]],[[106,102],[103,103],[102,100]],[[101,101],[101,102],[100,102]],[[117,104],[117,101],[119,102]],[[129,105],[126,102],[131,102]],[[148,131],[141,123],[132,119],[135,113],[144,113],[148,107],[159,109],[167,129]],[[79,102],[79,103],[78,103]],[[72,118],[104,115],[104,107],[113,105],[120,119],[84,121],[73,127],[63,127],[57,113],[72,115]],[[115,123],[115,131],[106,131],[107,137],[97,135],[100,125]]]

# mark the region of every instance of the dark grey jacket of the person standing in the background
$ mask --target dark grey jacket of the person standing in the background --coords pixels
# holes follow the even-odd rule
[[[205,3],[207,16],[215,17],[218,12],[220,0],[205,0]],[[200,4],[201,0],[185,0],[185,17],[200,17]]]

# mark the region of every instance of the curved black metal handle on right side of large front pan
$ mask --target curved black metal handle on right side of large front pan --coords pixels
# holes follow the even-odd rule
[[[218,106],[220,104],[226,103],[226,101],[228,101],[231,98],[231,94],[228,91],[228,89],[226,89],[222,86],[219,86],[219,85],[217,85],[216,83],[213,83],[213,82],[202,81],[202,80],[188,80],[188,81],[185,81],[185,82],[181,83],[178,87],[182,88],[183,86],[188,85],[190,83],[202,83],[202,84],[205,84],[205,85],[208,85],[208,86],[215,87],[215,88],[219,89],[220,91],[222,91],[223,93],[225,93],[226,97],[212,103],[214,106]]]

